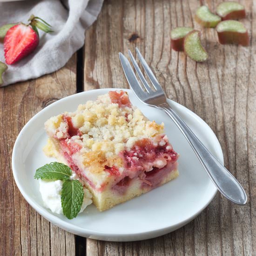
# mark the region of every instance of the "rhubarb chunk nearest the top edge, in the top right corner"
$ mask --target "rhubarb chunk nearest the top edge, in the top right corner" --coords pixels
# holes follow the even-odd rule
[[[237,2],[223,2],[217,6],[216,13],[222,20],[237,20],[245,18],[244,6]]]

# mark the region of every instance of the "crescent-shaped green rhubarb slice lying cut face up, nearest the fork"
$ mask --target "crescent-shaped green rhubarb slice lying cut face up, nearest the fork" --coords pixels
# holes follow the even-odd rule
[[[190,59],[198,62],[206,61],[208,54],[202,47],[200,31],[193,30],[184,39],[184,50]]]

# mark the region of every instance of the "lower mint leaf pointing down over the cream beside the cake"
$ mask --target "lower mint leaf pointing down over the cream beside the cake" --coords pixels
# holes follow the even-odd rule
[[[82,184],[78,180],[67,180],[62,185],[61,207],[68,219],[75,218],[81,210],[84,198]]]

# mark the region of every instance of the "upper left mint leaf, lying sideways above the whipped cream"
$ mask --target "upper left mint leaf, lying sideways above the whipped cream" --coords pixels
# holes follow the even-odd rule
[[[35,171],[35,179],[46,179],[46,180],[67,180],[72,175],[71,169],[60,162],[47,163],[44,166],[38,168]]]

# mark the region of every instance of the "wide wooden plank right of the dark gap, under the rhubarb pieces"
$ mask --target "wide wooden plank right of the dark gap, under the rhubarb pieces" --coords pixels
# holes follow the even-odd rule
[[[248,195],[245,206],[219,193],[194,221],[147,241],[113,243],[88,239],[87,255],[256,255],[256,2],[241,0],[250,46],[220,45],[214,29],[194,20],[196,8],[215,10],[220,0],[107,0],[86,33],[85,90],[128,88],[118,59],[141,50],[169,98],[202,117],[215,131],[225,166]],[[195,27],[209,61],[195,63],[170,50],[170,30]]]

